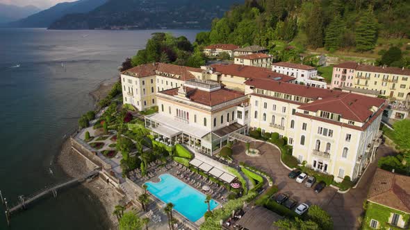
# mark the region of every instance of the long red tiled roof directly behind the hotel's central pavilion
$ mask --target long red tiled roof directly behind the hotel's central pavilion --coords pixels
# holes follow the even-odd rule
[[[213,71],[220,72],[227,75],[238,76],[241,78],[264,78],[264,79],[274,79],[277,81],[289,82],[295,80],[295,78],[276,73],[270,69],[263,67],[251,67],[242,64],[211,64]]]

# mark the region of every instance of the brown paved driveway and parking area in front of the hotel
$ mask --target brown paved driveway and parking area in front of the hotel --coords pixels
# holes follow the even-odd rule
[[[263,142],[256,142],[255,148],[261,151],[261,156],[248,157],[245,154],[245,143],[236,143],[232,148],[234,161],[236,163],[243,161],[268,172],[273,177],[274,184],[278,185],[279,193],[288,193],[300,203],[321,206],[332,216],[334,229],[357,229],[359,227],[357,217],[363,211],[363,202],[368,194],[368,184],[372,181],[372,175],[377,168],[376,161],[370,163],[357,188],[342,194],[337,193],[334,188],[326,187],[321,193],[315,193],[313,188],[307,188],[304,183],[299,184],[295,179],[288,177],[290,170],[281,164],[280,152],[277,148]],[[382,145],[377,151],[377,159],[391,152],[391,148]]]

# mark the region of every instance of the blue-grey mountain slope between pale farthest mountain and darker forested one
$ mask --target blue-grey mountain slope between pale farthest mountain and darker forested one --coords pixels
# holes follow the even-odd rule
[[[54,21],[67,14],[86,13],[106,3],[107,0],[79,0],[73,2],[58,3],[47,10],[42,10],[24,19],[10,22],[10,27],[49,27]]]

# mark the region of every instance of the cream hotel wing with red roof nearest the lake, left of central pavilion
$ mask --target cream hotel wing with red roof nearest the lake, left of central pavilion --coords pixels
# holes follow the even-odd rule
[[[121,73],[122,96],[139,110],[156,105],[156,93],[179,87],[186,80],[202,78],[202,69],[174,64],[142,64]]]

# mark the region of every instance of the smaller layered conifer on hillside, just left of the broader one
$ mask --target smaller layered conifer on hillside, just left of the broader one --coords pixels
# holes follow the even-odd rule
[[[336,50],[341,47],[344,33],[345,24],[343,23],[341,15],[337,14],[326,28],[325,48],[327,50]]]

